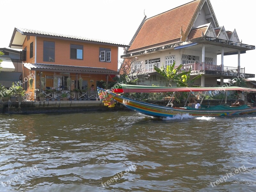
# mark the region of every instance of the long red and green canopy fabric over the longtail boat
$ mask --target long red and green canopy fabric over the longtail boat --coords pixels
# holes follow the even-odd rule
[[[141,85],[127,85],[115,84],[114,92],[116,93],[132,93],[132,92],[193,92],[193,91],[244,91],[256,92],[256,89],[245,87],[156,87],[156,86],[141,86]]]

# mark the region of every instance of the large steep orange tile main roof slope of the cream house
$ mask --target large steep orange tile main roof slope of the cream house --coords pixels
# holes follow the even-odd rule
[[[129,51],[180,39],[180,28],[188,28],[200,0],[181,5],[145,20]]]

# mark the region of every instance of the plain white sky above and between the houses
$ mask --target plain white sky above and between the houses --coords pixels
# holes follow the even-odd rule
[[[15,27],[129,44],[144,17],[168,11],[191,0],[9,0],[1,1],[0,47],[9,48]],[[253,0],[210,0],[220,26],[236,32],[244,44],[256,45]],[[39,3],[40,2],[40,3]],[[25,11],[26,10],[26,11]],[[185,12],[186,10],[184,10]],[[119,58],[123,48],[119,48]],[[256,51],[241,54],[245,73],[256,73]],[[120,60],[120,59],[119,59]],[[217,64],[220,65],[220,56]],[[224,56],[224,66],[237,66],[237,55]],[[254,78],[255,79],[255,78]]]

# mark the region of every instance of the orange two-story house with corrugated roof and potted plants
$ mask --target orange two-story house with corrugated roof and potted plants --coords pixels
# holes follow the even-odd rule
[[[86,89],[108,83],[118,75],[118,47],[127,45],[116,42],[88,39],[81,36],[62,35],[31,29],[14,28],[9,47],[22,49],[22,85],[27,92],[55,87],[68,90],[67,78],[71,78],[70,89],[79,88],[79,79]],[[32,88],[28,78],[33,74]],[[44,87],[41,79],[44,77]],[[24,84],[23,84],[24,83]]]

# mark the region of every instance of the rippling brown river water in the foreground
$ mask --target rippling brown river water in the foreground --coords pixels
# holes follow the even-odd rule
[[[0,191],[256,191],[255,120],[2,114]]]

